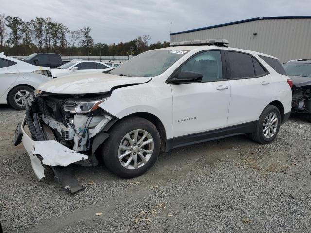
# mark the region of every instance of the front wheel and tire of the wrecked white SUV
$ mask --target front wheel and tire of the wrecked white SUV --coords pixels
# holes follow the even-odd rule
[[[127,135],[132,141],[127,139]],[[133,140],[135,135],[138,135],[137,140]],[[140,142],[143,135],[145,137]],[[137,177],[154,165],[160,152],[160,142],[160,134],[150,121],[140,117],[129,117],[117,122],[109,131],[109,137],[102,147],[102,158],[105,166],[117,176]],[[143,145],[145,143],[146,145]],[[124,157],[125,154],[127,155]]]

